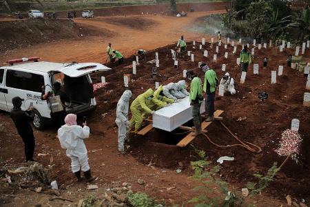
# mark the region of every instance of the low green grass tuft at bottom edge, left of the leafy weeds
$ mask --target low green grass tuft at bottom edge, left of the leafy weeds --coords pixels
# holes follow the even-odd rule
[[[156,206],[163,206],[163,205],[157,205],[155,203],[154,198],[149,197],[145,193],[131,193],[128,195],[128,200],[130,201],[130,204],[134,207],[156,207]]]

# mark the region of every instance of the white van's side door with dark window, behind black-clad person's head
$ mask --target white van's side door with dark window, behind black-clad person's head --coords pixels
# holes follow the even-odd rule
[[[27,72],[7,69],[6,70],[6,90],[8,93],[5,93],[6,97],[6,106],[8,106],[8,111],[13,108],[12,98],[21,97],[22,99],[26,99],[24,95],[24,77],[27,75]],[[23,101],[21,105],[21,109],[25,110],[25,101]]]

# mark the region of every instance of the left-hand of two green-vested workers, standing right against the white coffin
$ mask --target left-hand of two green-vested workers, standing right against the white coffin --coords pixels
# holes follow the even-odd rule
[[[192,109],[193,121],[195,126],[194,136],[198,136],[201,134],[201,115],[200,115],[200,106],[203,102],[203,90],[202,83],[200,78],[194,73],[193,70],[189,70],[186,72],[186,77],[191,81],[191,88],[189,92],[189,101]]]

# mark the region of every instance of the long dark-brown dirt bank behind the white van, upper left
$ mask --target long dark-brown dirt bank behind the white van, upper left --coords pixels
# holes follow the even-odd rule
[[[61,39],[80,39],[85,36],[111,37],[112,32],[86,27],[66,19],[0,21],[0,52]]]

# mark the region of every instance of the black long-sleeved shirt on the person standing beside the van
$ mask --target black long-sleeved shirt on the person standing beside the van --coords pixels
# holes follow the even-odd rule
[[[33,121],[34,112],[11,110],[11,118],[13,119],[17,132],[19,132],[21,137],[33,134],[33,130],[28,121]]]

